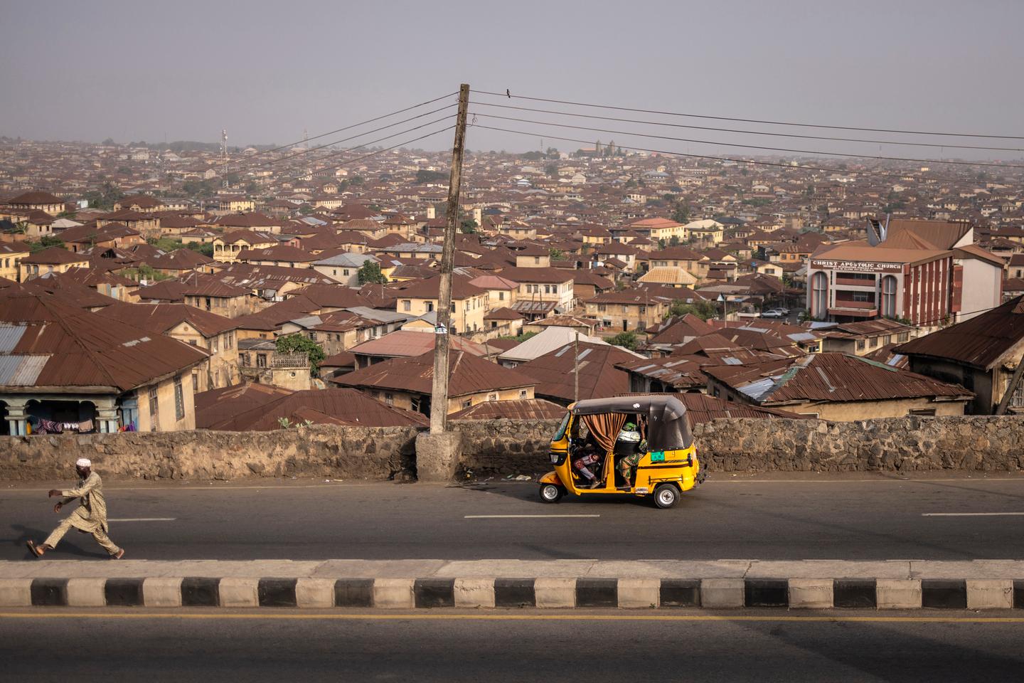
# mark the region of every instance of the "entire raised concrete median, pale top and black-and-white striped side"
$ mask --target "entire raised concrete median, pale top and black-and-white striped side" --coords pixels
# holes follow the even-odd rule
[[[0,562],[0,606],[1024,608],[1024,561]]]

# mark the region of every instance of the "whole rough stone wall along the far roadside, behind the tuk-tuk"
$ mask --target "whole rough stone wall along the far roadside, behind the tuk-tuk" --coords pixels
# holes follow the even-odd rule
[[[557,421],[454,422],[463,432],[459,476],[537,475],[551,469]],[[892,418],[862,422],[716,420],[694,428],[714,471],[1024,469],[1024,418]],[[0,480],[72,475],[90,458],[105,476],[238,479],[323,476],[388,479],[415,472],[412,427],[314,426],[271,432],[129,432],[0,438]]]

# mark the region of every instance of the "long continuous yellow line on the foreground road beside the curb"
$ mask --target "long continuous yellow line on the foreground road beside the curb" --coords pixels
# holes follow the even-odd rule
[[[252,611],[217,614],[211,612],[117,612],[113,614],[69,611],[0,612],[4,618],[98,618],[98,620],[319,620],[319,621],[476,621],[476,622],[833,622],[861,624],[1024,624],[1024,616],[771,616],[719,614],[282,614]],[[108,608],[109,609],[109,608]]]

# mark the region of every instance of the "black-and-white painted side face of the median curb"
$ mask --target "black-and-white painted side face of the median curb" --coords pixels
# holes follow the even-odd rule
[[[1002,579],[0,579],[0,607],[1024,609]]]

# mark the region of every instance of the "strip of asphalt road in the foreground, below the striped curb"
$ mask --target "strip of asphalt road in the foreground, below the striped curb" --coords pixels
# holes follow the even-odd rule
[[[804,618],[792,613],[762,613],[762,621],[718,614],[710,621],[699,612],[682,620],[571,611],[554,617],[516,611],[385,618],[339,612],[238,612],[236,618],[139,610],[120,616],[50,613],[0,616],[5,678],[918,683],[1014,681],[1024,670],[1020,623],[929,623],[920,615],[821,622],[792,621]],[[953,618],[972,616],[957,612]]]

